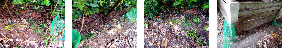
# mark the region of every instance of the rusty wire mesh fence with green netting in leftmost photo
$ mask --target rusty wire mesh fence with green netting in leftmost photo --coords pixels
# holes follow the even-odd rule
[[[50,39],[54,39],[65,27],[65,13],[63,13],[65,8],[63,7],[11,3],[0,1],[0,31],[7,37],[37,40],[52,36]],[[64,41],[64,35],[55,40]]]

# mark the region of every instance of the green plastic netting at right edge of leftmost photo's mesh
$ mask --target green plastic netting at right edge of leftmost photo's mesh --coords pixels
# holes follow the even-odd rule
[[[52,21],[52,24],[51,24],[52,32],[51,32],[51,34],[60,34],[62,29],[65,27],[65,23],[64,23],[65,21],[60,19],[59,13],[57,14],[57,16]],[[64,31],[64,34],[62,36],[63,36],[63,38],[61,38],[60,40],[61,41],[65,41],[65,37],[64,37],[65,36],[65,31]]]

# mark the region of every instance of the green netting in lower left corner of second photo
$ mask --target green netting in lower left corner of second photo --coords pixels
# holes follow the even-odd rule
[[[77,47],[78,46],[78,44],[79,44],[79,42],[80,42],[80,33],[79,33],[79,31],[77,31],[76,29],[71,29],[71,33],[72,33],[72,35],[71,35],[71,46],[72,47]]]

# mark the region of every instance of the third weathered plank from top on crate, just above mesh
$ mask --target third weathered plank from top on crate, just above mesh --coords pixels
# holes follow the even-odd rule
[[[238,22],[248,21],[248,20],[251,20],[251,19],[263,17],[265,15],[269,15],[269,14],[273,14],[273,13],[277,13],[277,12],[278,12],[278,10],[270,11],[270,12],[264,12],[264,13],[261,13],[261,14],[255,14],[253,16],[240,17]]]

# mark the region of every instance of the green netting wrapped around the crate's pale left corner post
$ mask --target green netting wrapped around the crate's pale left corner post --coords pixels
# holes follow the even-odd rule
[[[223,47],[230,47],[237,37],[234,25],[231,21],[228,21],[227,19],[224,20],[223,32]]]

